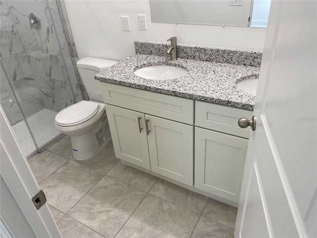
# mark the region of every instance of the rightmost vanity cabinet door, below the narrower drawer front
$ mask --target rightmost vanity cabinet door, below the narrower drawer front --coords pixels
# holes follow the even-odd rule
[[[195,128],[195,187],[239,202],[248,140]]]

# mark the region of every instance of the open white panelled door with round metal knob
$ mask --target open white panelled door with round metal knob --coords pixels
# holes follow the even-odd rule
[[[235,237],[316,237],[317,1],[272,1]]]

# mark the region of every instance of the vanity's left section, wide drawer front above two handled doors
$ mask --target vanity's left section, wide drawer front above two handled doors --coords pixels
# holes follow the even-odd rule
[[[193,186],[194,101],[109,83],[101,86],[115,156]]]

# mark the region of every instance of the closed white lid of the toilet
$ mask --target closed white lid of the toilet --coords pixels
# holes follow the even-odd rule
[[[94,117],[98,109],[98,103],[81,101],[60,111],[55,122],[61,126],[77,125]]]

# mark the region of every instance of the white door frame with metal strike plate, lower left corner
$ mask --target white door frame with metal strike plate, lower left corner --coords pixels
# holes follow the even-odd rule
[[[40,188],[2,107],[0,107],[0,142],[1,192],[3,192],[1,223],[3,220],[6,229],[9,229],[11,235],[15,237],[61,237],[48,205],[44,204],[36,210],[31,201]],[[3,190],[4,187],[6,189]],[[5,197],[11,197],[15,201],[12,199],[6,201]]]

